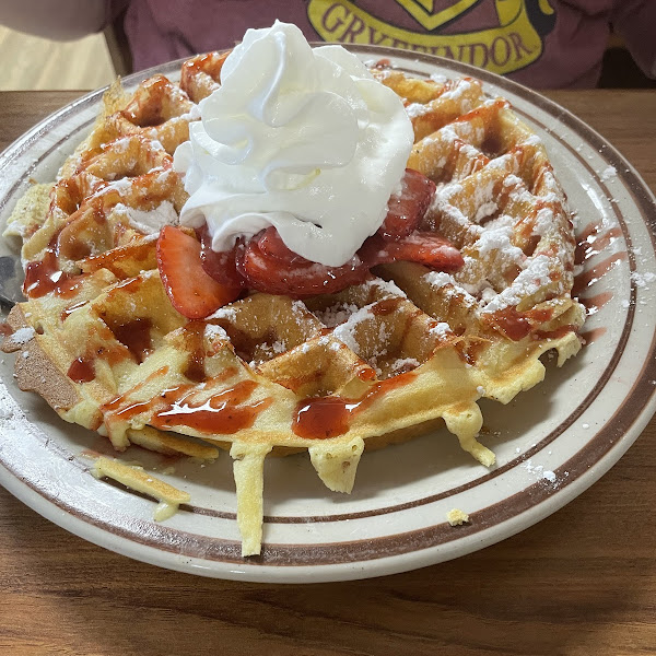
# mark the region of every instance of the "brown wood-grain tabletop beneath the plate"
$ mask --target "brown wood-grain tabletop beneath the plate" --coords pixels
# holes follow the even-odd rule
[[[0,93],[0,150],[77,92]],[[550,92],[656,190],[656,93]],[[0,489],[0,654],[656,653],[656,421],[590,490],[457,561],[308,586],[204,579],[87,543]]]

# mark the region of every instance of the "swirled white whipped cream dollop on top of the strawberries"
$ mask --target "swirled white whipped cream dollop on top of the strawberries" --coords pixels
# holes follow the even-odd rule
[[[207,222],[214,250],[273,225],[294,253],[338,267],[383,223],[412,125],[341,46],[313,49],[280,22],[249,30],[199,107],[174,167],[190,195],[180,223]]]

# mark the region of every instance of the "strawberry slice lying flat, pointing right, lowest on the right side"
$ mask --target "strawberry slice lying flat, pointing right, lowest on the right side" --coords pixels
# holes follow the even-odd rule
[[[414,231],[397,242],[386,242],[374,235],[358,253],[370,267],[403,260],[441,271],[456,271],[465,263],[460,251],[450,242],[430,232]]]

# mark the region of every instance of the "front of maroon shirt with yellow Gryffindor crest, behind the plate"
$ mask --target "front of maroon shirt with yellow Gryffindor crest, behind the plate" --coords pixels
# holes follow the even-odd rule
[[[309,40],[437,55],[536,87],[591,86],[611,2],[578,0],[137,0],[126,30],[137,70],[229,48],[276,19]]]

